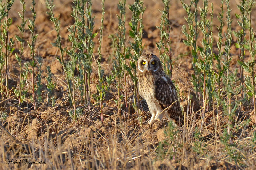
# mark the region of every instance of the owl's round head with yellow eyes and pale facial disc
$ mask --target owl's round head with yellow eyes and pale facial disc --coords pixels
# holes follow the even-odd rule
[[[143,54],[137,61],[139,72],[156,72],[162,70],[159,58],[154,54]]]

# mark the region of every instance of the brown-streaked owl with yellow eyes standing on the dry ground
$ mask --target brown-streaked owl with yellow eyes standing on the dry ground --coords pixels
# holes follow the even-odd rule
[[[148,124],[166,116],[169,120],[174,120],[176,125],[183,125],[183,115],[175,86],[164,73],[159,58],[154,54],[141,55],[137,61],[137,76],[139,94],[146,100],[152,114]]]

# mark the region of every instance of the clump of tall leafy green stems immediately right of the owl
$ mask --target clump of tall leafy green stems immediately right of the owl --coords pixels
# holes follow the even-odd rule
[[[211,16],[208,19],[208,0],[203,1],[203,7],[200,8],[200,20],[198,21],[197,14],[197,0],[190,2],[190,5],[185,4],[182,1],[183,8],[188,14],[186,21],[188,23],[188,31],[186,25],[183,25],[182,32],[185,34],[187,40],[183,42],[187,46],[192,47],[192,64],[195,71],[195,75],[192,75],[192,83],[197,93],[198,100],[202,105],[202,123],[201,129],[204,123],[204,114],[209,100],[213,99],[214,106],[214,79],[213,79],[213,4],[211,4]],[[192,5],[194,6],[194,12],[192,11]],[[201,40],[202,47],[197,46],[197,38],[199,31],[202,33],[203,38]],[[198,56],[198,53],[200,57]],[[202,97],[201,97],[202,96]]]

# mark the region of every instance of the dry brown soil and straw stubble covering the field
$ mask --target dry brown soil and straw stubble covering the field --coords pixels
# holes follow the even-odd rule
[[[212,1],[211,1],[212,2]],[[238,30],[234,13],[239,13],[236,4],[238,0],[231,2],[232,30]],[[26,18],[31,18],[29,10],[30,1],[26,1],[27,11],[25,12]],[[72,10],[71,1],[59,0],[54,2],[56,7],[54,13],[60,15],[61,21],[61,35],[63,45],[70,45],[68,42],[67,27],[74,23],[74,19],[70,16]],[[110,47],[111,40],[108,38],[110,34],[115,34],[118,28],[118,20],[116,14],[119,13],[117,8],[117,1],[105,2],[105,18],[104,18],[104,35],[103,35],[103,59],[102,67],[105,69],[105,74],[111,74],[111,67],[114,57],[112,56],[113,49]],[[131,0],[127,1],[126,6],[126,28],[128,37],[128,21],[131,19],[131,11],[129,11],[128,4],[132,4]],[[46,7],[43,0],[36,1],[36,33],[38,34],[36,41],[36,59],[38,55],[43,58],[42,69],[44,70],[43,83],[46,82],[46,66],[50,66],[53,74],[53,81],[57,83],[53,95],[56,97],[56,105],[51,106],[45,99],[40,103],[38,108],[33,111],[33,105],[28,99],[27,102],[22,104],[21,109],[18,109],[18,100],[13,96],[12,87],[16,88],[19,82],[19,65],[15,58],[14,52],[18,53],[19,43],[15,43],[15,50],[9,57],[9,71],[10,71],[10,84],[11,97],[8,100],[0,99],[0,112],[1,114],[7,113],[6,120],[2,120],[4,128],[17,140],[12,140],[10,135],[1,132],[0,143],[0,166],[3,169],[238,169],[248,168],[253,169],[256,164],[255,154],[247,153],[246,147],[240,150],[239,154],[246,155],[246,159],[237,163],[230,160],[225,152],[225,146],[220,142],[220,136],[223,133],[222,125],[228,123],[228,117],[221,114],[219,115],[219,125],[216,126],[217,113],[209,111],[205,114],[203,122],[203,129],[201,136],[203,137],[202,145],[207,145],[203,153],[193,152],[191,147],[195,145],[196,139],[193,137],[195,133],[195,126],[201,127],[202,119],[199,115],[201,106],[196,100],[196,94],[193,90],[193,85],[190,82],[191,74],[193,73],[190,48],[183,44],[185,36],[181,32],[181,27],[186,24],[184,17],[186,12],[182,8],[179,0],[171,1],[170,7],[170,24],[171,24],[171,38],[172,38],[172,56],[175,61],[173,80],[178,85],[181,106],[187,111],[188,91],[191,91],[191,106],[189,106],[189,124],[183,129],[178,129],[179,132],[173,139],[165,137],[165,131],[168,131],[168,122],[166,119],[160,122],[155,122],[149,126],[146,122],[150,119],[150,114],[147,107],[138,116],[132,109],[132,82],[128,80],[128,100],[130,105],[130,115],[121,114],[117,115],[117,108],[114,98],[117,98],[117,91],[115,85],[111,86],[110,92],[104,101],[104,121],[100,120],[100,107],[95,99],[92,99],[92,106],[89,112],[87,107],[83,107],[81,103],[77,103],[83,108],[83,115],[77,122],[71,120],[68,111],[70,107],[68,101],[68,92],[64,78],[64,72],[61,64],[56,60],[55,56],[60,56],[60,51],[53,47],[50,43],[56,38],[56,31],[54,26],[46,14]],[[200,3],[199,3],[200,4]],[[216,26],[219,25],[217,15],[220,10],[220,2],[214,2],[214,33],[217,35]],[[145,44],[146,53],[155,53],[159,55],[156,47],[156,42],[159,41],[159,26],[161,13],[159,10],[163,9],[163,3],[156,0],[145,0],[144,6],[146,7],[143,24],[144,36],[142,44]],[[20,11],[21,5],[19,1],[15,1],[11,11],[10,17],[13,18],[13,24],[10,27],[10,37],[19,35],[17,24],[20,24],[20,18],[17,11]],[[100,18],[101,18],[101,1],[94,0],[93,16],[95,16],[94,32],[99,32]],[[226,7],[225,7],[226,9]],[[255,10],[253,10],[255,12]],[[252,12],[252,13],[253,13]],[[255,27],[256,18],[252,17],[252,25]],[[225,26],[224,26],[225,27]],[[224,28],[225,30],[225,28]],[[99,36],[99,35],[98,35]],[[95,38],[94,59],[98,59],[97,48],[99,45],[98,36]],[[199,39],[202,35],[199,35]],[[30,41],[30,32],[28,26],[24,33],[24,38]],[[236,42],[236,38],[234,42]],[[131,39],[129,39],[131,40]],[[217,36],[214,36],[214,46],[217,47]],[[131,40],[132,41],[132,40]],[[127,42],[128,44],[128,42]],[[200,44],[200,43],[199,43]],[[238,67],[236,62],[239,51],[232,46],[231,55],[233,56],[231,62],[231,70]],[[249,58],[245,56],[245,60]],[[68,56],[65,55],[65,59]],[[22,63],[30,60],[30,51],[28,45],[24,47],[24,56]],[[37,73],[38,70],[36,70]],[[31,76],[29,75],[27,83],[31,88]],[[96,83],[98,83],[97,65],[93,62],[93,71],[91,78],[92,94],[96,94]],[[31,95],[29,89],[28,95]],[[43,98],[47,96],[46,87],[44,86],[42,92]],[[28,96],[27,96],[28,97]],[[77,101],[79,95],[76,97]],[[123,102],[124,104],[124,102]],[[125,107],[122,107],[125,110]],[[243,144],[250,144],[250,139],[253,137],[255,125],[254,114],[252,106],[239,108],[236,117],[236,122],[241,122],[243,119],[251,119],[247,128],[241,126],[240,131],[234,132],[234,141],[243,140]],[[197,112],[197,113],[195,113]],[[241,132],[243,130],[243,132]],[[236,134],[235,134],[236,133]],[[183,134],[185,134],[183,136]],[[158,146],[160,141],[169,141],[169,145],[164,145],[166,151],[173,150],[174,157],[168,156],[161,158]],[[174,141],[183,142],[183,146],[179,146]],[[172,146],[172,147],[171,147]],[[254,146],[255,147],[255,146]],[[173,148],[173,149],[172,149]],[[202,146],[203,148],[203,146]],[[170,151],[172,152],[172,151]],[[7,159],[30,159],[30,161],[46,161],[46,164],[5,164]],[[0,168],[0,169],[1,169]]]

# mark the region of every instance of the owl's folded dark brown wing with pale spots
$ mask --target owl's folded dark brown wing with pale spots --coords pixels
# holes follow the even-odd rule
[[[165,109],[172,105],[173,102],[176,102],[167,109],[170,118],[174,119],[176,122],[183,122],[183,115],[180,108],[180,103],[178,100],[177,92],[175,86],[173,85],[171,79],[167,76],[161,76],[155,83],[155,98],[162,109]]]

